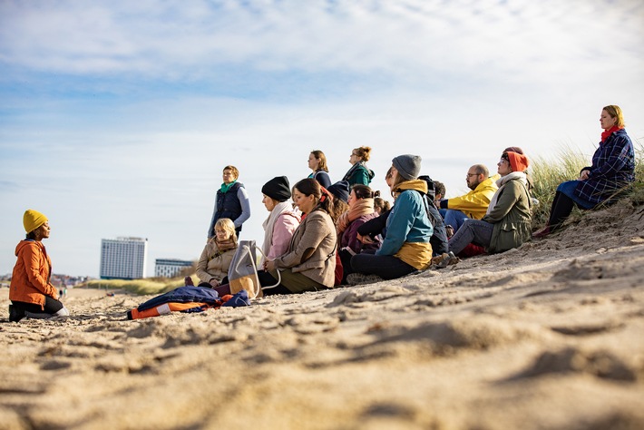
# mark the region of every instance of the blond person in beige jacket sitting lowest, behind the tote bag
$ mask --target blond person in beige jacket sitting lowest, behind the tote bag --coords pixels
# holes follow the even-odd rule
[[[215,288],[228,283],[228,269],[237,250],[237,233],[235,224],[228,218],[220,218],[215,223],[214,237],[208,240],[197,262],[199,287]],[[192,285],[192,279],[186,277],[186,285]]]

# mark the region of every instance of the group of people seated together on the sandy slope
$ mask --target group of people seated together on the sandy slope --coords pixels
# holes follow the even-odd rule
[[[385,175],[395,200],[391,208],[368,186],[373,171],[364,166],[364,148],[354,150],[349,159],[353,166],[346,178],[362,178],[353,183],[345,178],[331,184],[324,153],[311,151],[308,178],[291,188],[287,177],[276,177],[262,188],[270,214],[263,224],[266,258],[259,280],[262,285],[278,283],[278,288],[264,294],[334,288],[354,283],[354,274],[396,279],[428,269],[445,253],[466,257],[503,252],[550,234],[574,204],[590,209],[634,180],[634,151],[623,131],[619,107],[607,106],[604,116],[606,132],[593,165],[584,168],[577,181],[560,186],[552,220],[534,234],[530,163],[521,148],[501,153],[496,174],[474,164],[465,178],[470,191],[450,199],[444,198],[443,184],[420,175],[420,156],[399,155]],[[600,189],[600,196],[584,200],[577,195],[575,190],[588,187]],[[232,221],[219,220],[199,263],[200,285],[219,288],[220,294],[229,293],[226,262],[234,253],[235,228]]]

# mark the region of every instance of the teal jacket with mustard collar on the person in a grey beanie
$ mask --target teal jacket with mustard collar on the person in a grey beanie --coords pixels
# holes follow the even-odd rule
[[[405,242],[429,242],[434,233],[427,217],[424,194],[427,183],[422,180],[405,181],[386,220],[386,238],[376,255],[395,255]],[[421,192],[418,192],[421,191]]]

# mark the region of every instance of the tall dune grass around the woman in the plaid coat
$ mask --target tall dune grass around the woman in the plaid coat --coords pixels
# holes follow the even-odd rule
[[[644,204],[644,138],[633,140],[635,147],[635,182],[623,191],[620,198],[627,198],[634,204]],[[563,146],[552,159],[536,157],[532,160],[530,174],[532,176],[532,197],[539,200],[539,205],[532,208],[532,228],[540,228],[550,217],[552,199],[559,184],[563,181],[575,180],[585,166],[590,166],[592,153],[585,154],[569,145]],[[597,209],[601,209],[600,205]],[[579,220],[584,210],[575,208],[570,220]]]

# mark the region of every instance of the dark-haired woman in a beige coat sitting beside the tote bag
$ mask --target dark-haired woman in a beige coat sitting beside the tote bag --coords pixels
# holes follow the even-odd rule
[[[320,184],[307,178],[293,187],[293,201],[304,214],[288,244],[276,259],[265,260],[258,271],[264,295],[293,294],[333,288],[335,284],[337,232],[333,198]],[[278,275],[279,271],[279,275]],[[280,279],[279,284],[278,279]],[[230,294],[229,285],[215,288],[220,296]]]

